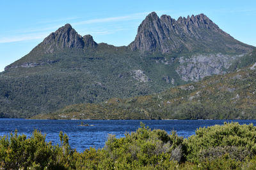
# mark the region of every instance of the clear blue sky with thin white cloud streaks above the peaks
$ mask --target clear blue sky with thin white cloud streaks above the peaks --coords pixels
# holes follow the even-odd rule
[[[97,43],[129,45],[138,26],[152,11],[159,17],[187,17],[204,13],[223,31],[256,46],[256,1],[1,1],[0,71],[29,53],[67,23]]]

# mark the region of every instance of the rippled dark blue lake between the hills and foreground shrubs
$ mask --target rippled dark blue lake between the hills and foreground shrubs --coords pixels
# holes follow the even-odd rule
[[[90,124],[93,126],[79,126]],[[239,122],[239,124],[256,125],[256,120],[26,120],[0,118],[0,136],[8,135],[17,129],[19,134],[26,134],[28,137],[34,129],[46,134],[46,140],[52,141],[55,145],[60,143],[59,132],[63,131],[68,135],[72,148],[83,152],[84,149],[104,147],[108,134],[115,134],[116,138],[124,137],[125,132],[136,131],[140,122],[146,124],[150,129],[163,129],[170,133],[177,131],[179,136],[188,138],[195,134],[199,127],[208,127],[223,122]]]

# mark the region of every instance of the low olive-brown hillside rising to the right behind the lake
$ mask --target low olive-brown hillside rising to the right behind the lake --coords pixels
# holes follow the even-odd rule
[[[255,56],[256,57],[256,56]],[[255,119],[256,62],[158,94],[75,104],[34,118],[52,119]]]

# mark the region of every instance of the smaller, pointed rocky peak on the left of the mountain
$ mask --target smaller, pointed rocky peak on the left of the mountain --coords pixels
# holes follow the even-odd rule
[[[66,51],[83,51],[88,48],[95,48],[96,46],[97,43],[93,41],[92,36],[86,35],[82,37],[70,24],[66,24],[47,36],[28,55],[6,66],[4,71],[17,67],[36,67],[54,64],[63,60],[64,57],[57,55],[67,54],[65,53]]]

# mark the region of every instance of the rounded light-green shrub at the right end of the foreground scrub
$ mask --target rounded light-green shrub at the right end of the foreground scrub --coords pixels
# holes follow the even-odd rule
[[[229,153],[234,159],[243,160],[246,156],[255,155],[255,142],[256,127],[253,124],[225,123],[197,129],[195,135],[184,140],[184,146],[186,159],[191,162],[199,162],[202,155],[211,159],[223,153]]]

